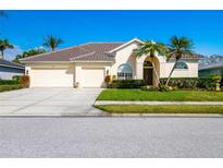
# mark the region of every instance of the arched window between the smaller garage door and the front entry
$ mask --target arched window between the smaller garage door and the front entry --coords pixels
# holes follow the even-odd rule
[[[133,69],[129,64],[121,64],[117,68],[117,80],[129,80],[133,79]]]

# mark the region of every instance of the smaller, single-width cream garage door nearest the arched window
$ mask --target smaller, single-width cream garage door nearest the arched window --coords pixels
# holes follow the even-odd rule
[[[101,87],[104,80],[104,69],[82,69],[84,87]]]

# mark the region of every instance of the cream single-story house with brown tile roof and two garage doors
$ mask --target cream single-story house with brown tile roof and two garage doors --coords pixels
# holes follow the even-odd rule
[[[32,87],[103,87],[106,75],[117,79],[144,79],[157,85],[150,58],[136,57],[134,49],[143,44],[134,38],[127,43],[88,43],[58,51],[21,59],[30,75]],[[200,55],[184,57],[174,70],[173,77],[197,77]],[[174,60],[156,57],[160,77],[168,77]]]

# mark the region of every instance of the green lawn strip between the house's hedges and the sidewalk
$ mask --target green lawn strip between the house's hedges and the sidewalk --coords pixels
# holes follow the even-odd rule
[[[223,92],[104,89],[97,100],[223,101]]]

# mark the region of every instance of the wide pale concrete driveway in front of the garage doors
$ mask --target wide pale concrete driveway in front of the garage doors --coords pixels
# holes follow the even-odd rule
[[[98,116],[101,88],[26,88],[0,93],[0,116]]]

